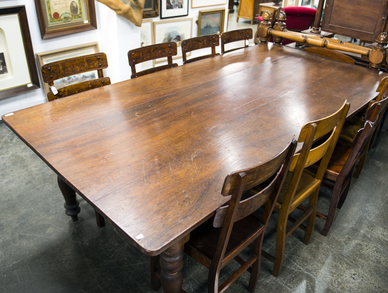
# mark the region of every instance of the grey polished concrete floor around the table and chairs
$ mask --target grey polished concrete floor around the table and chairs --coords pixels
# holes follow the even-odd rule
[[[388,292],[388,132],[370,151],[327,237],[317,219],[311,242],[297,230],[286,241],[279,277],[261,261],[256,292]],[[65,215],[54,172],[0,123],[0,292],[153,292],[149,258],[81,197],[80,221]],[[319,209],[327,209],[322,189]],[[273,215],[263,247],[274,252]],[[208,270],[184,258],[187,292],[207,292]],[[227,266],[222,276],[236,266]],[[227,292],[247,292],[244,273]],[[157,292],[162,292],[160,289]]]

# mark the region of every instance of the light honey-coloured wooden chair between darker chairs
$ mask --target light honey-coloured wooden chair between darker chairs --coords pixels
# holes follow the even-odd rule
[[[295,154],[291,162],[286,183],[280,192],[275,205],[275,212],[278,212],[276,228],[276,252],[275,257],[262,251],[262,255],[274,262],[272,274],[278,276],[283,264],[286,238],[302,223],[307,220],[303,243],[308,244],[311,239],[315,225],[317,212],[318,192],[321,186],[323,175],[326,171],[334,146],[337,143],[339,132],[343,126],[346,114],[349,111],[349,103],[345,103],[334,114],[323,119],[305,124],[299,134],[298,143],[303,143],[302,149]],[[322,143],[312,147],[314,141],[324,138]],[[321,161],[320,161],[321,160]],[[305,168],[320,161],[318,171],[313,174]],[[301,204],[308,198],[308,206]],[[289,217],[295,209],[303,210],[303,214],[296,220]],[[292,225],[287,228],[287,221],[291,220]],[[302,228],[301,226],[300,228]]]

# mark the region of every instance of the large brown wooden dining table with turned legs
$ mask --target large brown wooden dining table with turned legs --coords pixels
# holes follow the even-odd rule
[[[345,99],[355,114],[384,76],[265,43],[2,119],[57,173],[68,214],[79,208],[63,182],[140,251],[161,254],[163,291],[179,292],[183,245],[228,201],[226,175],[270,159]]]

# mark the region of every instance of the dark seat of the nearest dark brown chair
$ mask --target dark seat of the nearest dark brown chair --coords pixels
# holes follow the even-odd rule
[[[226,247],[223,266],[233,260],[233,253],[236,250],[242,251],[252,242],[251,239],[259,236],[262,229],[264,229],[264,225],[253,214],[235,222]],[[209,268],[217,248],[220,232],[221,228],[213,227],[212,219],[206,221],[190,233],[190,239],[185,244],[185,252],[190,256],[201,254],[203,256],[201,263]]]

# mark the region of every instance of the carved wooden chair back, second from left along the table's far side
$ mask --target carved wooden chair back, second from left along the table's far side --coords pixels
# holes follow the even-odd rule
[[[176,42],[150,45],[128,51],[128,61],[130,69],[132,71],[132,75],[130,76],[130,78],[132,79],[142,75],[178,66],[178,64],[173,63],[173,56],[176,56],[177,54],[178,50]],[[140,72],[136,72],[136,64],[165,57],[167,57],[166,65],[161,65]]]

